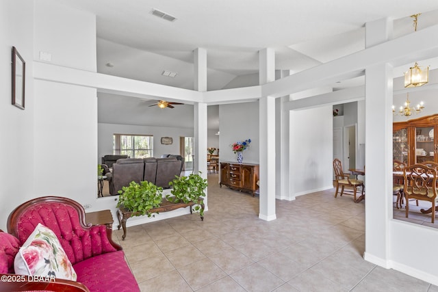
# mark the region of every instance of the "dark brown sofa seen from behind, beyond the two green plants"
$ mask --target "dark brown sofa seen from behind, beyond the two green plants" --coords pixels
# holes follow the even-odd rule
[[[110,183],[110,194],[118,195],[122,187],[127,187],[131,181],[149,181],[164,189],[175,176],[181,174],[181,161],[175,157],[166,158],[128,158],[118,159],[112,165],[112,173],[107,173]]]

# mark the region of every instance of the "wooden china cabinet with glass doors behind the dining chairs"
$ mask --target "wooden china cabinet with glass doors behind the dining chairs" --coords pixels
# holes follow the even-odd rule
[[[393,123],[393,159],[407,165],[438,162],[438,114]]]

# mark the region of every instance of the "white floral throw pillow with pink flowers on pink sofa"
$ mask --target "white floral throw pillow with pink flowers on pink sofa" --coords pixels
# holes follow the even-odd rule
[[[77,276],[55,233],[38,224],[18,251],[15,274],[75,281]]]

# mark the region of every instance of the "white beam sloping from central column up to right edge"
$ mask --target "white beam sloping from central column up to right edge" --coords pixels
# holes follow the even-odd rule
[[[438,38],[433,36],[438,36],[438,25],[266,83],[261,88],[262,96],[281,97],[339,80],[359,77],[364,75],[365,68],[377,64],[390,63],[392,66],[401,66],[419,59],[437,57]]]

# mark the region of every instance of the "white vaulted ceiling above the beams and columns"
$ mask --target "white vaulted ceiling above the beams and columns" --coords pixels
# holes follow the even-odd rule
[[[57,0],[57,3],[96,14],[98,72],[187,89],[193,89],[193,50],[198,47],[207,50],[207,88],[218,90],[226,88],[236,77],[257,74],[257,52],[263,48],[275,49],[276,69],[299,72],[364,49],[364,25],[370,21],[394,20],[394,38],[414,32],[411,14],[422,13],[418,18],[419,30],[438,22],[436,0]],[[177,20],[169,22],[153,16],[150,13],[153,8]],[[114,66],[107,67],[107,63]],[[438,64],[433,67],[434,64],[424,65],[435,69]],[[401,76],[406,69],[407,66],[394,68],[394,75]],[[178,75],[164,77],[163,70]],[[342,81],[333,84],[333,88],[360,83],[363,78]],[[126,98],[122,101],[138,107]],[[120,107],[122,101],[119,96],[99,98],[99,107]]]

